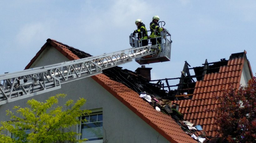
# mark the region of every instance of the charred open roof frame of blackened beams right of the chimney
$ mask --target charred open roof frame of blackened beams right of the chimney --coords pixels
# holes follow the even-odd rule
[[[232,54],[230,57],[240,57],[242,53]],[[181,76],[179,78],[165,78],[159,80],[151,80],[151,82],[157,81],[157,84],[160,88],[167,89],[167,96],[160,96],[161,98],[168,100],[189,100],[192,99],[196,81],[204,80],[204,75],[211,73],[218,73],[221,66],[226,66],[228,60],[220,59],[217,62],[208,63],[207,59],[205,60],[203,66],[193,67],[187,61],[185,61],[183,70],[181,71]],[[194,70],[194,75],[190,74],[190,70]],[[170,80],[180,79],[178,84],[169,85]],[[165,84],[166,85],[165,85]],[[174,90],[171,90],[171,87],[177,87]]]

